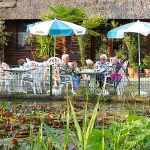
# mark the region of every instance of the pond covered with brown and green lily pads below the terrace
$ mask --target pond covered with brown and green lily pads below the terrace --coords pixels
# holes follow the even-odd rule
[[[72,102],[78,122],[82,122],[84,102]],[[94,103],[88,104],[87,118],[91,118]],[[1,101],[0,102],[0,146],[21,142],[29,144],[30,127],[37,134],[40,122],[61,130],[66,126],[66,102],[64,101]],[[123,122],[128,114],[150,116],[150,105],[145,103],[100,103],[96,127],[109,126],[108,120]],[[70,126],[73,121],[70,119]],[[61,132],[61,131],[60,131]]]

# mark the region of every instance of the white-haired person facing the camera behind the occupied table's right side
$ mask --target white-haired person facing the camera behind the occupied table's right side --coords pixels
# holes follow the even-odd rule
[[[94,65],[97,69],[105,69],[104,72],[96,75],[96,80],[99,82],[100,88],[103,87],[105,76],[107,75],[107,70],[109,69],[109,63],[107,62],[107,55],[100,55],[100,61],[97,61]]]

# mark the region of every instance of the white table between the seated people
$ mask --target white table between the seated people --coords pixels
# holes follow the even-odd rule
[[[105,69],[100,69],[100,70],[94,70],[94,69],[84,69],[80,71],[80,74],[87,74],[90,76],[90,88],[94,88],[95,86],[95,81],[96,81],[96,75],[103,73]]]

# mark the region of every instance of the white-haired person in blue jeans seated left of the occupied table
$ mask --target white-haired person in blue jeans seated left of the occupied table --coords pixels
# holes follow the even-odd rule
[[[77,75],[77,71],[75,70],[75,66],[69,66],[69,55],[68,54],[63,54],[62,55],[62,65],[59,68],[59,73],[61,75],[71,75],[72,76],[72,81],[74,85],[74,89],[78,89],[80,87],[80,77]],[[72,63],[73,65],[73,63]],[[63,78],[61,81],[64,80]]]

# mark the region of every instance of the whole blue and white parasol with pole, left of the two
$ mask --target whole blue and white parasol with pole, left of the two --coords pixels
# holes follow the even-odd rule
[[[27,31],[35,35],[51,35],[54,37],[54,57],[56,49],[56,36],[72,36],[86,34],[86,28],[71,22],[61,20],[42,21],[27,26]]]

